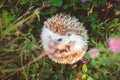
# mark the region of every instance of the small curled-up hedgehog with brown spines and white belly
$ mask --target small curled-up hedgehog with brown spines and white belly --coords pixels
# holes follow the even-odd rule
[[[61,64],[73,64],[81,60],[88,48],[88,34],[83,23],[66,13],[48,18],[40,37],[48,57]]]

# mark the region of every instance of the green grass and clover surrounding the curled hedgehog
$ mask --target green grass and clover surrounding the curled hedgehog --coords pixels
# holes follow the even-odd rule
[[[100,56],[74,65],[44,57],[8,80],[120,80],[120,54],[114,55],[108,49],[108,40],[120,37],[119,5],[120,0],[1,0],[0,79],[42,53],[39,36],[44,21],[65,12],[84,23],[89,48],[97,48]]]

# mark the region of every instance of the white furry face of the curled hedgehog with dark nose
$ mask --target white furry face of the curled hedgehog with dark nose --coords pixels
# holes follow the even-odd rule
[[[41,33],[42,46],[44,50],[55,48],[61,42],[65,41],[66,38],[67,37],[60,36],[59,34],[54,33],[45,27]]]

